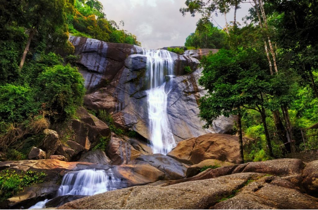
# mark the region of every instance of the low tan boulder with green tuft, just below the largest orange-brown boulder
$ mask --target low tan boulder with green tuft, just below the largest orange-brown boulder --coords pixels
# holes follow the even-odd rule
[[[219,160],[214,160],[214,159],[207,159],[204,161],[199,162],[198,164],[194,164],[190,166],[187,169],[186,176],[191,177],[195,176],[200,173],[200,170],[204,168],[205,166],[214,166],[215,168],[222,167],[222,166],[230,166],[234,165],[232,162],[223,162]]]

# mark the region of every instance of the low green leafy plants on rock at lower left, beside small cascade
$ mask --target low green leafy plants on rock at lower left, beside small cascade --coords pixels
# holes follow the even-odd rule
[[[42,182],[46,176],[44,172],[27,171],[17,173],[15,170],[3,170],[0,172],[0,201],[12,197],[21,192],[25,187]]]

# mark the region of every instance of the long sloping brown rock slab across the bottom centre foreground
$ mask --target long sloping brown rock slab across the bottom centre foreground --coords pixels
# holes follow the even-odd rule
[[[208,209],[257,176],[242,173],[167,187],[135,186],[74,200],[58,209]]]

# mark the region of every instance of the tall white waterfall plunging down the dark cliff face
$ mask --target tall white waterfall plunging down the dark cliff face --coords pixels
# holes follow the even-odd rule
[[[148,114],[150,142],[153,153],[166,155],[175,146],[167,114],[170,89],[166,88],[165,76],[173,75],[174,64],[169,51],[143,51],[147,56],[147,78],[149,82]]]

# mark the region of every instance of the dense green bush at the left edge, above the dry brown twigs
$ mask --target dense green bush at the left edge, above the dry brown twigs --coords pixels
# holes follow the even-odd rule
[[[0,120],[21,122],[40,108],[34,100],[34,92],[27,86],[7,84],[0,86]]]

